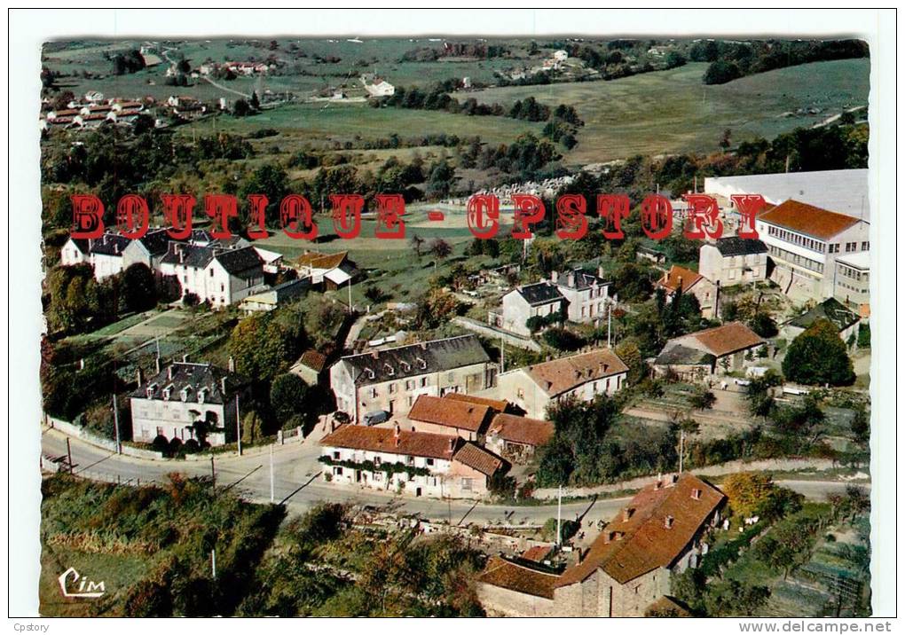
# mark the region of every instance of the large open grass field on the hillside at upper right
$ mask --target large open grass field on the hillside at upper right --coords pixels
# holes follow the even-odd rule
[[[615,81],[506,87],[473,93],[483,102],[510,104],[534,96],[550,105],[575,106],[585,126],[569,164],[610,161],[633,155],[719,150],[723,130],[733,143],[776,137],[812,126],[843,108],[867,104],[870,61],[815,62],[751,75],[719,86],[701,77],[707,64]],[[784,116],[796,109],[816,115]]]

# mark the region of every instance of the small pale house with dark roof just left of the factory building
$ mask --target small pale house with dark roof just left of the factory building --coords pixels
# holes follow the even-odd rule
[[[729,236],[701,246],[700,275],[720,287],[767,280],[767,245],[754,238]]]

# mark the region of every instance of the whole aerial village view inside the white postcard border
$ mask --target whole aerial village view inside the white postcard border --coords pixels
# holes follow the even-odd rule
[[[871,614],[866,43],[42,58],[43,615]],[[104,229],[80,238],[86,194]],[[179,237],[168,194],[197,200]],[[205,194],[236,197],[228,237]],[[281,225],[290,194],[307,237]],[[337,194],[364,199],[354,235]],[[376,235],[381,194],[403,237]],[[620,235],[600,194],[626,201]],[[719,237],[686,235],[690,194]],[[546,209],[528,235],[524,195]],[[102,597],[61,595],[67,567]]]

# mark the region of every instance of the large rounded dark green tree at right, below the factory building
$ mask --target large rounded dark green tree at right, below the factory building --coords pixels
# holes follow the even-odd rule
[[[855,376],[845,343],[833,324],[823,318],[789,345],[783,374],[799,384],[833,386],[852,384]]]

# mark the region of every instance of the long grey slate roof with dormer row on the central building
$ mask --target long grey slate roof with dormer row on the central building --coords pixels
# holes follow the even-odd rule
[[[357,385],[369,385],[490,361],[478,337],[466,335],[349,355],[338,364],[349,366]]]

